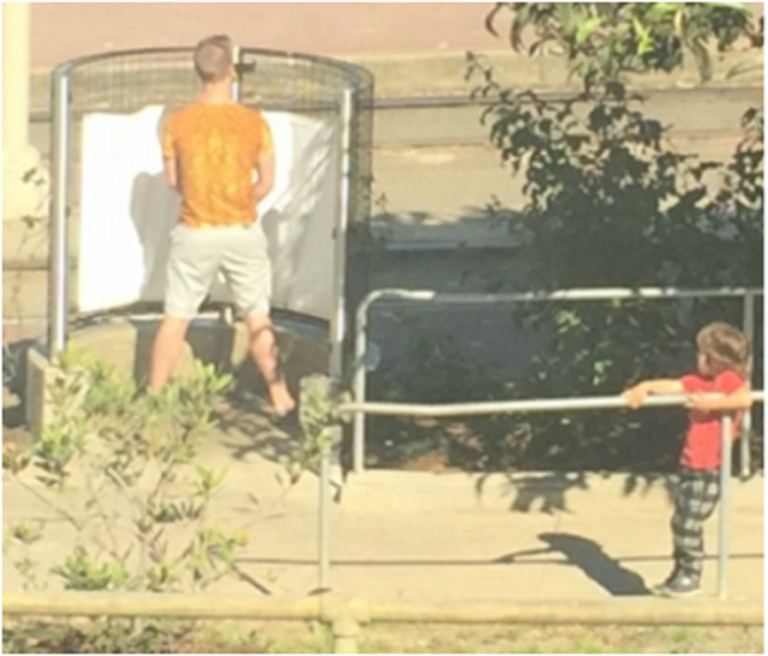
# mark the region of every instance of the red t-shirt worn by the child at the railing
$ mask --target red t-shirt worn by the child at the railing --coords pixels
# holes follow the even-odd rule
[[[720,393],[733,394],[744,387],[745,381],[742,374],[727,370],[719,373],[713,378],[705,378],[701,374],[689,374],[680,378],[687,394]],[[734,437],[743,412],[736,412],[733,422]],[[721,414],[702,412],[691,410],[688,415],[688,432],[686,443],[680,455],[680,464],[690,470],[719,470],[720,468],[720,440],[721,440]]]

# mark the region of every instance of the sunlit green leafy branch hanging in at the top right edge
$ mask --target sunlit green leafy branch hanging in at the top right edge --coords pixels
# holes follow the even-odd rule
[[[626,73],[671,72],[688,55],[707,81],[712,47],[763,45],[761,22],[735,2],[499,2],[486,27],[498,35],[508,12],[512,48],[566,56],[587,91],[625,81]]]

